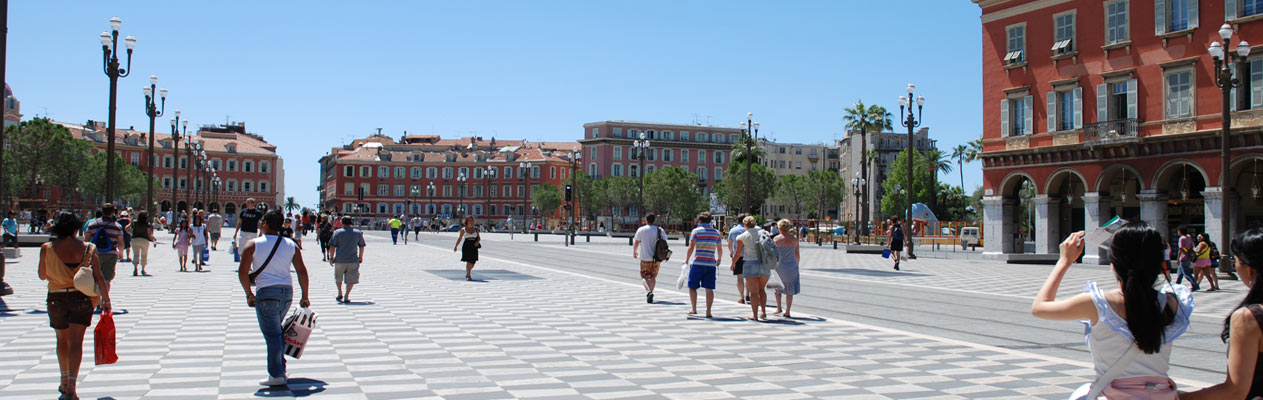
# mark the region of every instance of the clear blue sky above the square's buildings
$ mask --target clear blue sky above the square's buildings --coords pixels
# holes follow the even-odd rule
[[[11,1],[8,81],[28,119],[105,120],[97,35],[119,16],[139,42],[120,126],[148,124],[140,88],[158,74],[168,111],[275,144],[287,196],[309,206],[316,160],[378,127],[577,140],[591,121],[749,111],[760,134],[818,143],[858,98],[898,117],[908,82],[949,151],[981,135],[979,15],[966,0]]]

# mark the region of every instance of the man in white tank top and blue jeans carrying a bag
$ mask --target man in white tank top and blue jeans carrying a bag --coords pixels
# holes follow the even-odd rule
[[[285,223],[279,209],[263,216],[263,236],[251,238],[241,247],[241,264],[237,266],[237,280],[245,290],[246,305],[254,308],[259,321],[259,331],[268,346],[268,379],[260,381],[264,386],[285,385],[285,339],[280,322],[289,310],[294,298],[293,280],[289,266],[298,274],[298,285],[303,290],[298,305],[311,307],[307,297],[307,265],[303,254],[293,241],[279,236]],[[254,288],[251,288],[251,284]]]

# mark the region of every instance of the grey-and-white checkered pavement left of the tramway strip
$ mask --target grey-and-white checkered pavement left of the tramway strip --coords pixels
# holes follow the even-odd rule
[[[256,384],[264,343],[231,256],[216,252],[208,273],[177,273],[174,251],[159,247],[150,252],[153,276],[120,269],[112,293],[120,361],[93,366],[88,334],[81,396],[1063,399],[1091,376],[1079,361],[845,321],[748,322],[749,309],[730,302],[716,302],[716,319],[687,318],[685,294],[629,300],[640,293],[634,285],[567,273],[565,262],[484,256],[474,273],[480,280],[464,281],[457,254],[392,246],[380,232],[369,236],[355,303],[335,304],[332,269],[312,247],[303,254],[320,327],[303,358],[289,360],[288,387]],[[35,261],[30,251],[9,264],[18,294],[0,298],[5,399],[56,395]],[[663,275],[674,279],[671,269]]]

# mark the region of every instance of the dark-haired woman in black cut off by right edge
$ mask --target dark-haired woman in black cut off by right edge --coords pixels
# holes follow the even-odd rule
[[[1228,344],[1228,375],[1223,384],[1194,392],[1180,394],[1180,399],[1258,399],[1263,396],[1263,285],[1259,268],[1263,266],[1263,228],[1252,228],[1233,238],[1233,256],[1236,257],[1236,275],[1249,293],[1242,303],[1224,318],[1220,339]]]

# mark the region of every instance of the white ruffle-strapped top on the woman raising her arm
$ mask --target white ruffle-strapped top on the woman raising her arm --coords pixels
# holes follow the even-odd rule
[[[1089,281],[1084,285],[1084,291],[1087,291],[1092,297],[1092,304],[1096,305],[1096,324],[1091,326],[1089,321],[1081,322],[1085,326],[1084,334],[1087,339],[1087,348],[1092,352],[1092,367],[1096,371],[1096,376],[1101,376],[1105,375],[1105,371],[1109,371],[1110,366],[1123,358],[1128,348],[1135,346],[1133,344],[1135,338],[1132,336],[1132,331],[1128,329],[1127,321],[1109,307],[1109,303],[1105,300],[1105,291],[1101,291],[1095,281]],[[1123,374],[1118,379],[1167,376],[1171,361],[1171,343],[1188,328],[1188,315],[1192,314],[1192,293],[1188,291],[1188,288],[1163,284],[1158,289],[1159,307],[1167,307],[1168,293],[1175,294],[1178,304],[1176,305],[1175,319],[1166,327],[1162,336],[1161,350],[1152,355],[1140,352],[1132,361],[1132,365],[1123,370]]]

